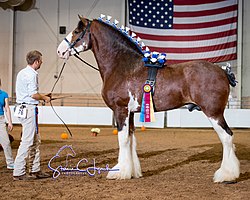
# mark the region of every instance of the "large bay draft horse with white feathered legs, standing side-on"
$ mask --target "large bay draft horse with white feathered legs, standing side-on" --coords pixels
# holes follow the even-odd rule
[[[60,58],[91,49],[103,81],[102,97],[114,112],[118,129],[119,156],[108,179],[142,176],[136,152],[134,113],[140,112],[142,86],[148,72],[143,53],[134,42],[111,24],[79,16],[78,26],[59,44]],[[154,109],[167,111],[184,105],[198,107],[209,119],[223,145],[220,168],[214,182],[234,182],[240,174],[235,155],[233,132],[224,118],[230,92],[227,73],[207,61],[190,61],[158,69],[154,90]]]

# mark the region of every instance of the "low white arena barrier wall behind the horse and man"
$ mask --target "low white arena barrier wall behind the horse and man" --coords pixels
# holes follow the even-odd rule
[[[60,107],[54,109],[66,124],[73,125],[113,125],[113,112],[109,108],[98,107]],[[19,124],[14,116],[14,106],[11,106],[14,124]],[[203,112],[189,112],[187,109],[176,109],[155,113],[156,121],[139,122],[139,113],[135,114],[135,126],[151,128],[204,128],[212,127]],[[225,119],[232,128],[250,128],[250,109],[226,109]],[[39,124],[62,124],[50,106],[39,106]]]

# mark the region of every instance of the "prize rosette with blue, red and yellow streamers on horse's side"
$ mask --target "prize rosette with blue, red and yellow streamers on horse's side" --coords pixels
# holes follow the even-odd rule
[[[140,122],[154,122],[154,106],[152,99],[152,87],[149,84],[143,86],[143,97],[142,97],[142,106],[140,114]]]

